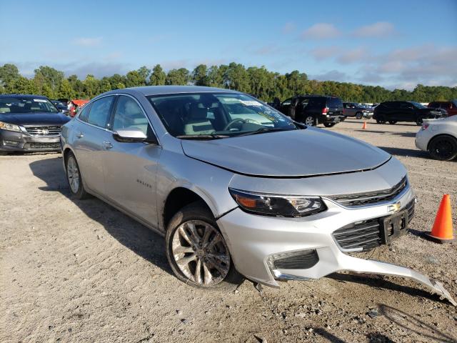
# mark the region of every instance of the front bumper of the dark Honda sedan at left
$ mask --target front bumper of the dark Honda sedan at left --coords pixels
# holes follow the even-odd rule
[[[0,129],[0,151],[60,151],[60,136],[29,136]]]

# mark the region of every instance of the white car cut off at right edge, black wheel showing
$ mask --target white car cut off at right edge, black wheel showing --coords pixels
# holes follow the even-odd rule
[[[428,151],[433,159],[451,161],[457,157],[457,116],[445,119],[423,119],[416,134],[418,149]]]

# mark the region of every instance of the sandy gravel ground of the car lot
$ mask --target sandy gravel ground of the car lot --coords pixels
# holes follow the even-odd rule
[[[443,194],[457,214],[457,161],[414,146],[418,126],[349,120],[331,130],[406,165],[419,202],[410,233],[366,257],[438,279],[457,299],[457,243],[430,231]],[[457,309],[396,277],[333,274],[258,292],[194,289],[164,239],[99,199],[71,199],[60,154],[0,156],[0,342],[456,342]]]

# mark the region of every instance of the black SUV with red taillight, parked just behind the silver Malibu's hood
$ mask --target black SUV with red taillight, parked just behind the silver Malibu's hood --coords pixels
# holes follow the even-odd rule
[[[293,96],[284,100],[278,109],[293,120],[308,126],[323,124],[331,127],[346,119],[343,114],[343,101],[336,96]]]

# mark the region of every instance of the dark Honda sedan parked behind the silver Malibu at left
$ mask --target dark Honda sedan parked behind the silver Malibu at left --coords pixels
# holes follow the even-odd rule
[[[69,120],[46,96],[0,95],[0,154],[59,151],[61,126]]]

